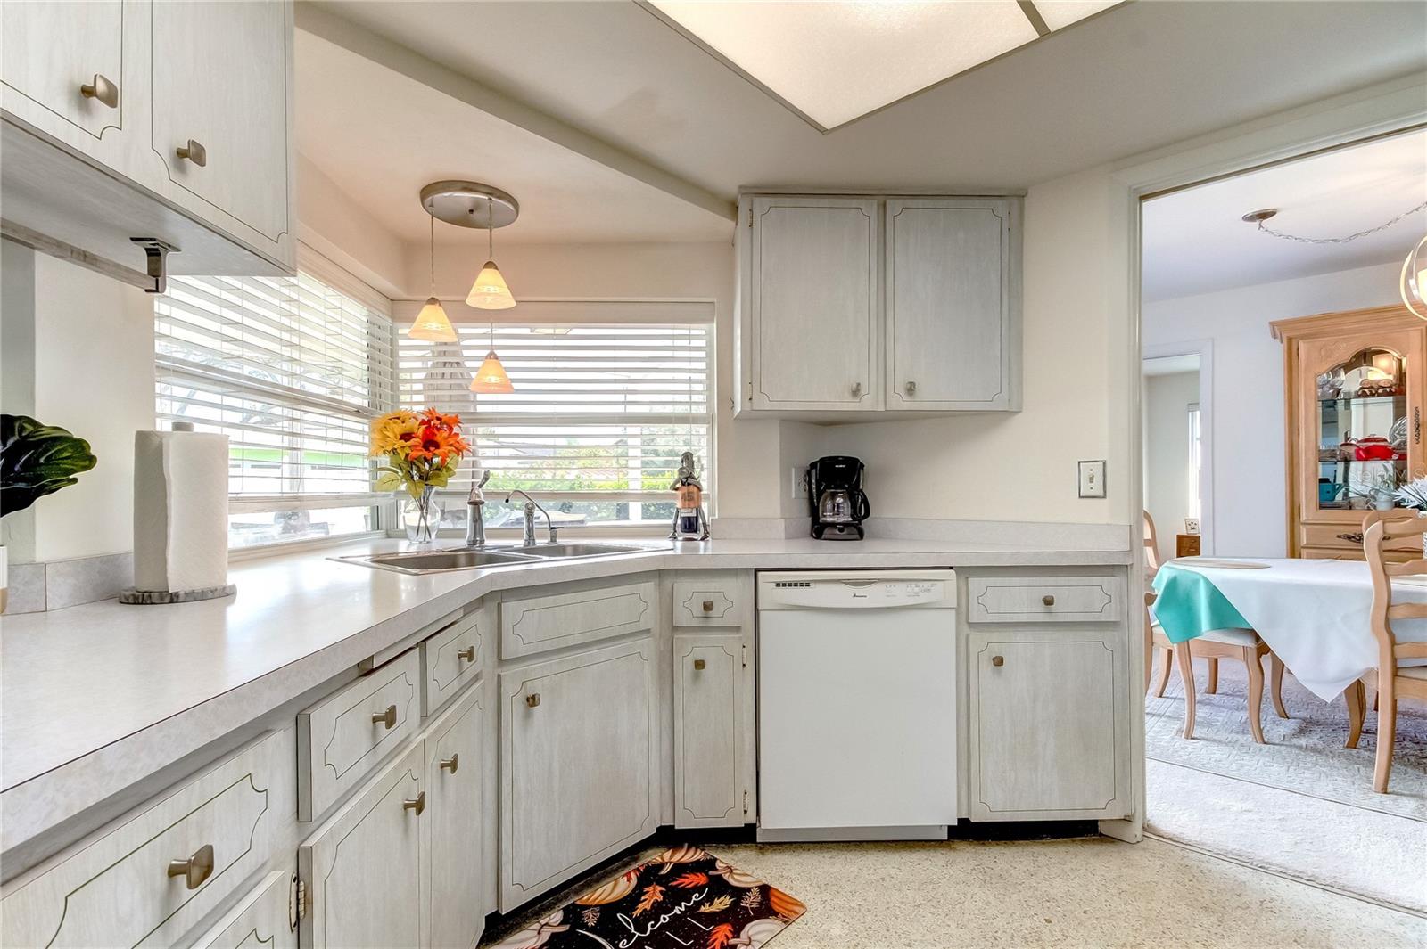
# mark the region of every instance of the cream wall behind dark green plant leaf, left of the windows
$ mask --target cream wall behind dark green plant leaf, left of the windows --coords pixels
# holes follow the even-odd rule
[[[7,278],[33,268],[34,282],[31,294],[17,294],[9,279],[4,291],[3,409],[68,429],[98,457],[77,484],[4,519],[13,557],[47,561],[128,551],[134,432],[154,427],[153,301],[14,244],[4,244],[4,256]],[[27,372],[31,383],[10,383]]]

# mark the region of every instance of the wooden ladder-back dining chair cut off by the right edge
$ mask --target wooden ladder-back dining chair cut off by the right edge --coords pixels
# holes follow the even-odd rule
[[[1406,664],[1411,660],[1427,661],[1427,643],[1398,643],[1393,633],[1393,620],[1427,618],[1427,603],[1393,603],[1393,577],[1427,573],[1427,559],[1388,563],[1383,546],[1403,537],[1420,539],[1424,533],[1427,520],[1420,517],[1378,520],[1363,531],[1363,553],[1373,577],[1368,620],[1377,638],[1377,765],[1373,768],[1373,789],[1378,794],[1387,794],[1387,777],[1393,769],[1398,697],[1427,701],[1427,665]],[[1351,742],[1351,747],[1356,744]]]

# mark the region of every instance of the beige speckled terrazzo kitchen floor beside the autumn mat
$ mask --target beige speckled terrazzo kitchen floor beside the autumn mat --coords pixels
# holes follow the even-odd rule
[[[1427,946],[1427,918],[1156,839],[706,849],[808,905],[772,949]]]

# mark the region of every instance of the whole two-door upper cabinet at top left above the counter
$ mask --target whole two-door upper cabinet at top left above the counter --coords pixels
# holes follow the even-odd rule
[[[293,4],[0,4],[4,235],[146,284],[295,262]]]

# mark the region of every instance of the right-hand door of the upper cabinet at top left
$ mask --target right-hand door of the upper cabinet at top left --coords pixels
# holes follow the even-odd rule
[[[153,148],[183,191],[270,241],[288,229],[288,4],[153,9]],[[180,158],[193,140],[207,164]]]

